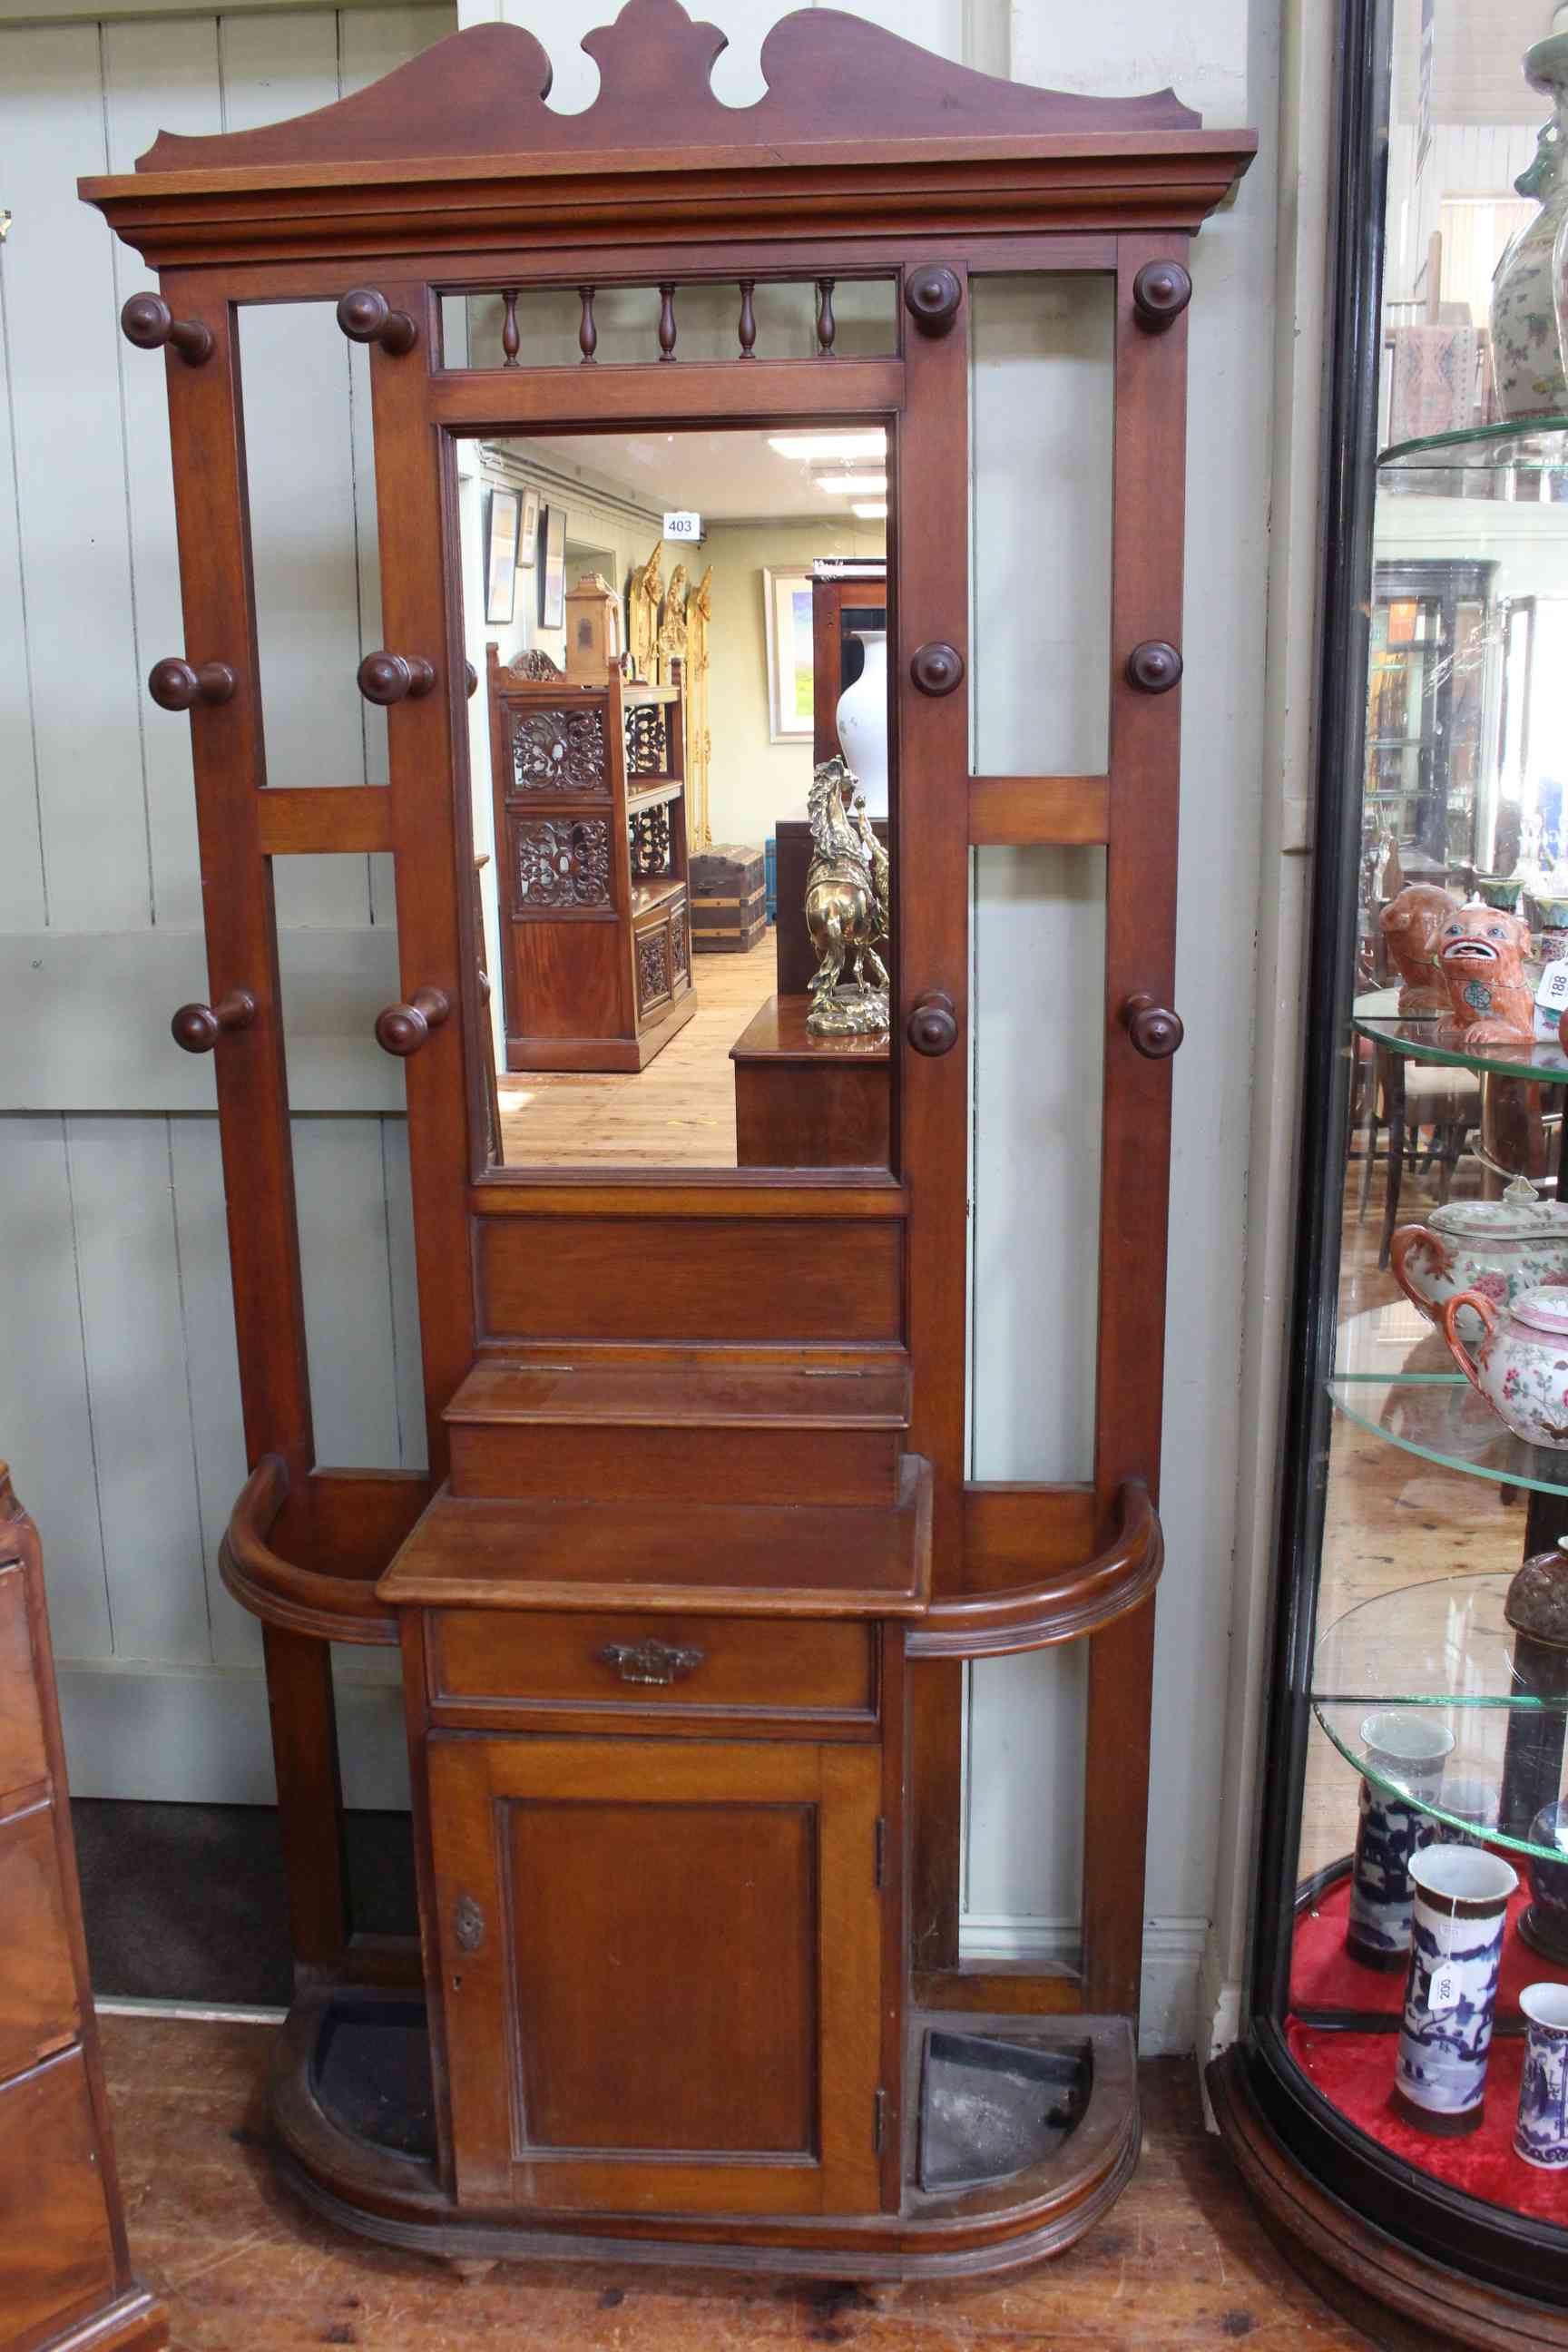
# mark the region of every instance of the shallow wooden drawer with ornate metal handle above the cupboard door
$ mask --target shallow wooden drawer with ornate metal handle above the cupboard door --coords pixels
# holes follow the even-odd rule
[[[437,1710],[877,1717],[865,1623],[433,1609],[425,1628]]]

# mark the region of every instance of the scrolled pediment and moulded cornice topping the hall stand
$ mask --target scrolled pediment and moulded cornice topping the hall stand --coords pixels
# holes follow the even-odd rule
[[[679,0],[628,0],[583,40],[599,94],[545,103],[531,33],[470,26],[369,89],[254,132],[162,132],[134,174],[85,179],[165,268],[355,252],[487,252],[914,228],[1197,228],[1251,132],[1204,132],[1171,92],[1098,99],[931,56],[837,9],[769,33],[755,106],[710,87],[724,47]]]

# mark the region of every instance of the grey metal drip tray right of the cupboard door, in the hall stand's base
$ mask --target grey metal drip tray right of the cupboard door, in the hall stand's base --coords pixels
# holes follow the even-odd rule
[[[919,2185],[978,2190],[1053,2157],[1093,2084],[1088,2042],[1030,2049],[994,2034],[926,2032]]]

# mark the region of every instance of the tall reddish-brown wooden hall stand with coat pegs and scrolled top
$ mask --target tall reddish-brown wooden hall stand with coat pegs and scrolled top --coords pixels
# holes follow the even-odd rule
[[[214,1014],[186,1014],[183,1042],[216,1051],[254,1465],[223,1571],[266,1628],[299,1959],[273,2122],[310,2204],[461,2263],[592,2244],[969,2274],[1070,2244],[1138,2152],[1178,292],[1253,139],[1168,92],[1025,89],[832,12],[773,28],[769,94],[736,113],[710,89],[719,45],[675,0],[630,0],[590,35],[595,103],[557,115],[538,42],[477,26],[320,115],[165,134],[136,174],[85,181],[162,285],[127,332],[167,346],[195,680]],[[987,273],[1093,273],[1114,301],[1100,776],[971,776],[957,550]],[[599,287],[644,301],[639,348],[625,303],[599,334]],[[336,303],[369,346],[388,652],[362,680],[388,703],[386,790],[266,769],[263,699],[289,682],[254,675],[235,322],[280,301]],[[524,339],[552,301],[559,341]],[[783,315],[804,320],[790,355],[769,346]],[[703,353],[733,318],[729,355],[686,358],[689,318]],[[806,1105],[776,1120],[771,1164],[571,1169],[529,1164],[524,1124],[494,1167],[475,809],[494,797],[520,1065],[590,1084],[569,1056],[614,1037],[614,1084],[649,1087],[693,1002],[682,746],[677,696],[529,659],[491,668],[494,793],[475,786],[458,445],[759,426],[886,449],[875,1141],[851,1167],[813,1155]],[[233,691],[205,694],[212,666]],[[966,1482],[973,842],[1088,847],[1107,873],[1114,1247],[1079,1484]],[[404,1002],[376,1033],[404,1056],[428,1477],[317,1461],[270,898],[284,851],[388,847]],[[517,1023],[520,993],[550,990],[552,1025]],[[724,1089],[766,995],[722,1040]],[[418,1945],[353,1926],[331,1642],[402,1649]],[[1056,1642],[1088,1651],[1081,1966],[987,1971],[959,1952],[961,1661]]]

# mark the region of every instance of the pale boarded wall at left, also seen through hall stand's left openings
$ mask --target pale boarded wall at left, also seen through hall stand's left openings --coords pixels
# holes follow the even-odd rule
[[[287,26],[287,33],[284,33]],[[78,202],[158,129],[324,106],[451,31],[447,7],[0,26],[0,1451],[47,1550],[73,1785],[270,1802],[256,1623],[216,1545],[244,1482],[190,729],[146,696],[183,649],[165,367],[118,332],[150,275]],[[355,691],[378,642],[364,355],[331,306],[242,334],[268,767],[386,776]],[[357,529],[355,529],[357,522]],[[294,1162],[324,1461],[423,1458],[386,861],[280,863]],[[381,1679],[381,1686],[376,1682]],[[346,1656],[346,1773],[404,1783],[395,1691]]]

